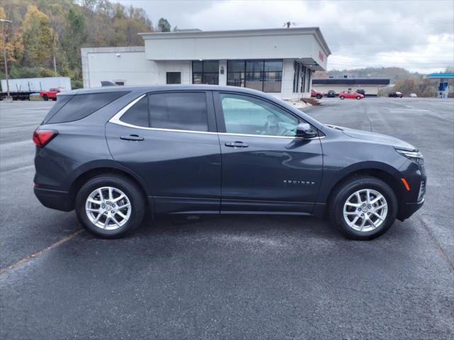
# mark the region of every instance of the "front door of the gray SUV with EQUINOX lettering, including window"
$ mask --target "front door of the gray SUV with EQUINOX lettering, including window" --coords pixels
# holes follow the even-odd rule
[[[310,213],[319,191],[319,137],[295,137],[301,118],[270,101],[216,93],[221,211]]]

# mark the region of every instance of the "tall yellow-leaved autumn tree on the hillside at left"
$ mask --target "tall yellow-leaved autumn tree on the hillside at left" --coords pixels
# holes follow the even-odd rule
[[[49,18],[34,5],[22,23],[23,66],[49,66],[52,57],[52,29]]]

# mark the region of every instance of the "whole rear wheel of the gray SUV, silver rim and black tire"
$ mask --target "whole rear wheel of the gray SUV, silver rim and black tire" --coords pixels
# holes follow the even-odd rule
[[[131,180],[116,174],[96,176],[77,193],[76,214],[85,229],[98,237],[121,237],[143,220],[145,198]]]

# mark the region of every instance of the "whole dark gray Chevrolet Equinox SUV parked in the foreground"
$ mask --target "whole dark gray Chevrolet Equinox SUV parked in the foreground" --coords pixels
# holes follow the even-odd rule
[[[69,91],[35,130],[35,195],[99,237],[152,214],[328,215],[372,239],[421,205],[412,145],[229,86]]]

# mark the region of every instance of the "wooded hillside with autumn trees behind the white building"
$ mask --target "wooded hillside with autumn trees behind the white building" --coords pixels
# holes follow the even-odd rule
[[[153,28],[142,8],[108,0],[0,0],[6,24],[11,78],[71,77],[82,86],[81,47],[143,45],[139,32],[170,30],[164,18]],[[3,48],[0,41],[0,49]],[[0,73],[4,74],[3,58]]]

